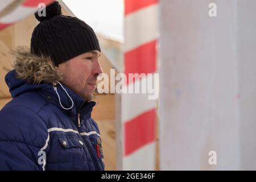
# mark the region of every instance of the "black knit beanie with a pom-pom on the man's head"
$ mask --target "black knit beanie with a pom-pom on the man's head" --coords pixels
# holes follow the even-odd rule
[[[82,53],[101,51],[93,29],[84,21],[61,15],[59,2],[46,7],[46,16],[39,16],[38,26],[31,37],[31,53],[50,56],[55,65],[59,65]]]

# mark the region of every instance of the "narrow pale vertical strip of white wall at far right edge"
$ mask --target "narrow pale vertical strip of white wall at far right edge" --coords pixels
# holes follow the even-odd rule
[[[241,167],[256,170],[256,1],[237,0]]]

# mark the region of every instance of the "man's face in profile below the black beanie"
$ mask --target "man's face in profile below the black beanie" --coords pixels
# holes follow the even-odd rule
[[[99,51],[90,51],[59,64],[63,84],[86,101],[92,100],[97,86],[97,76],[102,73],[99,56]]]

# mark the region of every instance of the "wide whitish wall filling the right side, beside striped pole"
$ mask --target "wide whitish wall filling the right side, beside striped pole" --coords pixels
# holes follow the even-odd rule
[[[255,6],[160,1],[160,169],[256,169]]]

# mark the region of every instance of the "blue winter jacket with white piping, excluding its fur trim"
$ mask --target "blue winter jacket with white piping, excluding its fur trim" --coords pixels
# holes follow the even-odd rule
[[[104,170],[96,103],[16,74],[5,77],[13,100],[0,111],[0,170]]]

